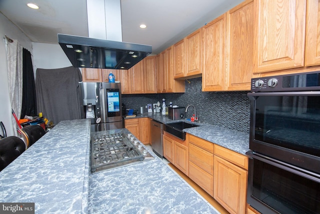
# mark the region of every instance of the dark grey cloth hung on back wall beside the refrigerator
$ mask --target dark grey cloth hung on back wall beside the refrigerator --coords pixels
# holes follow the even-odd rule
[[[61,120],[81,119],[78,68],[36,69],[35,90],[37,109],[48,120],[57,124]]]

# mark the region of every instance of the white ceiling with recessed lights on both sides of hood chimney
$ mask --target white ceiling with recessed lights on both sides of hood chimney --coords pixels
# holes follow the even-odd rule
[[[26,7],[30,2],[39,10]],[[158,54],[243,0],[120,2],[122,41],[151,45]],[[57,44],[58,33],[88,36],[86,0],[0,0],[0,12],[32,42]]]

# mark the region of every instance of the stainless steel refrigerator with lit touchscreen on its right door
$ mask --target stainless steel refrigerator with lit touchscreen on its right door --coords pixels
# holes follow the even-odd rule
[[[91,132],[123,128],[120,83],[80,83],[82,118],[91,120]]]

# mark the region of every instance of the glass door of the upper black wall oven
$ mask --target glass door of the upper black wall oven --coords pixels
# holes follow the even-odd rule
[[[309,93],[256,93],[254,140],[320,156],[320,93]]]

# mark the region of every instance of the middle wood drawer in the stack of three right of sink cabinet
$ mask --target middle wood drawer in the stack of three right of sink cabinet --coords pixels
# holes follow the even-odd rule
[[[189,161],[213,175],[213,154],[189,143]]]

